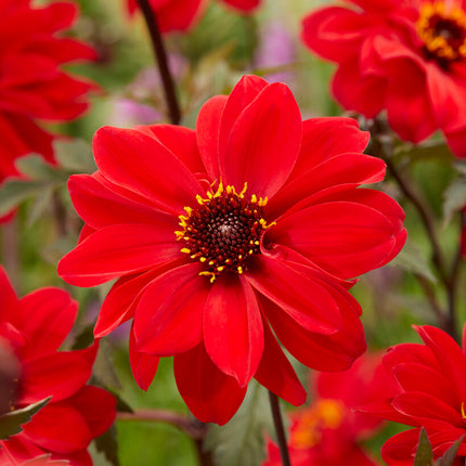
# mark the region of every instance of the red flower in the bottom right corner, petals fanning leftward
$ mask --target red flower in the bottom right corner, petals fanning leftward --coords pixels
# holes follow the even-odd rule
[[[390,466],[413,464],[420,427],[427,431],[435,457],[466,436],[466,327],[463,350],[439,328],[415,328],[424,345],[397,345],[384,357],[384,365],[399,386],[398,393],[365,407],[368,413],[415,427],[384,444],[381,456]],[[464,464],[466,441],[457,456]]]

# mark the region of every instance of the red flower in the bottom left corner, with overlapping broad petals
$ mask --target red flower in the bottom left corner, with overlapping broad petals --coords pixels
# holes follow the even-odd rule
[[[59,288],[41,288],[17,299],[0,268],[0,338],[21,365],[10,407],[52,397],[23,426],[23,432],[0,441],[0,465],[22,464],[44,454],[68,459],[74,466],[92,465],[86,449],[114,422],[115,399],[101,388],[85,385],[92,373],[96,344],[79,351],[57,351],[76,313],[77,303]]]

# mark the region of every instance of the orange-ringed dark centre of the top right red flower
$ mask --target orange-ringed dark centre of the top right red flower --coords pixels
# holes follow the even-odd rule
[[[416,26],[427,56],[441,66],[466,57],[466,14],[461,7],[424,3]]]

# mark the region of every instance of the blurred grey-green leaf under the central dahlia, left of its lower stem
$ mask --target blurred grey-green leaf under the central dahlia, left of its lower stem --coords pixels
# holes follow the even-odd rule
[[[266,456],[264,430],[273,432],[268,392],[251,381],[235,416],[225,426],[209,427],[205,445],[213,452],[216,464],[257,466]]]

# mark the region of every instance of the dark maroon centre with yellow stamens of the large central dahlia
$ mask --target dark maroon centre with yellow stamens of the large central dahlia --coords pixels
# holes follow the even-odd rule
[[[242,274],[247,260],[260,253],[260,238],[272,224],[263,219],[266,198],[255,194],[247,199],[243,191],[220,183],[216,193],[207,193],[207,199],[197,196],[199,206],[184,207],[186,216],[180,216],[181,231],[177,240],[184,242],[182,253],[206,266],[202,275],[212,283],[223,271]]]

